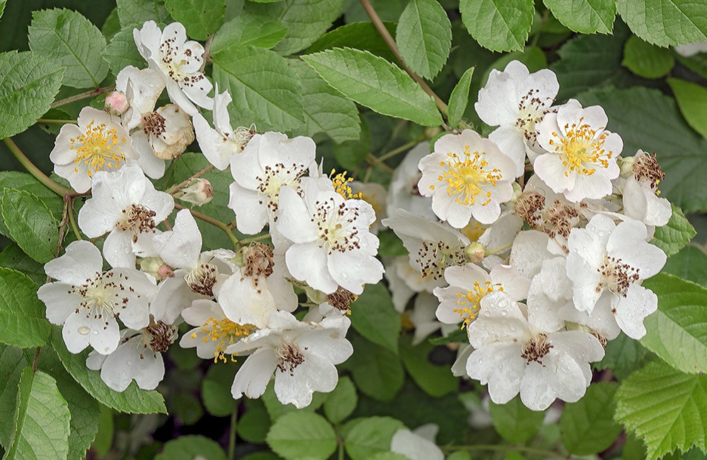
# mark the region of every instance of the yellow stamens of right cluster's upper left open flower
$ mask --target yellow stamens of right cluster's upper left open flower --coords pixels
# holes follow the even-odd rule
[[[487,191],[486,187],[489,184],[496,187],[496,181],[501,179],[501,170],[484,169],[489,166],[484,160],[485,153],[469,153],[469,146],[464,146],[463,160],[456,153],[448,153],[447,156],[450,160],[440,162],[440,166],[446,166],[448,170],[437,178],[447,182],[447,196],[454,195],[454,201],[464,206],[472,206],[477,199],[481,200],[482,206],[489,204],[491,191]]]

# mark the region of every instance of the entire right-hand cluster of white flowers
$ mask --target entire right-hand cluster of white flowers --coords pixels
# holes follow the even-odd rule
[[[441,324],[417,301],[411,317],[467,331],[452,370],[534,410],[578,401],[607,341],[645,335],[658,299],[641,283],[666,259],[648,241],[672,214],[655,155],[621,157],[602,107],[555,105],[558,90],[547,69],[491,71],[474,107],[496,129],[413,149],[382,220],[409,252],[387,271],[396,306],[433,293]]]

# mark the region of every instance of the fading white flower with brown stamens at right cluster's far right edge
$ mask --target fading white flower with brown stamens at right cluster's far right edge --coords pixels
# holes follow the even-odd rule
[[[633,158],[626,158],[621,168],[630,166],[622,189],[624,214],[630,218],[641,220],[645,225],[661,227],[668,223],[672,216],[670,201],[660,198],[657,190],[658,182],[665,177],[660,170],[655,155],[648,155],[638,150]],[[623,176],[623,175],[622,175]],[[623,177],[619,177],[623,179]]]

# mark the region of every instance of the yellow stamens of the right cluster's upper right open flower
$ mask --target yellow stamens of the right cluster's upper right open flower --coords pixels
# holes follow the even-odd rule
[[[560,154],[566,177],[570,172],[590,176],[595,172],[592,166],[609,167],[609,159],[612,158],[613,152],[604,150],[604,141],[609,136],[607,132],[602,131],[597,137],[597,130],[588,124],[582,124],[583,119],[584,117],[579,119],[579,124],[565,125],[567,134],[560,139],[559,144],[550,139],[550,145]],[[556,132],[552,135],[560,137]]]

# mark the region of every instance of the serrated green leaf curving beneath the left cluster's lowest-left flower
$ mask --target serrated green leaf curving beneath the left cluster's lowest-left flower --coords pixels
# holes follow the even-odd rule
[[[165,401],[162,395],[154,390],[141,390],[135,382],[131,382],[129,387],[122,393],[112,390],[100,379],[100,372],[89,370],[86,367],[86,355],[88,350],[74,355],[66,350],[62,329],[59,326],[52,328],[50,342],[59,360],[71,377],[81,384],[88,394],[93,396],[104,406],[115,409],[119,412],[129,413],[167,413]]]

